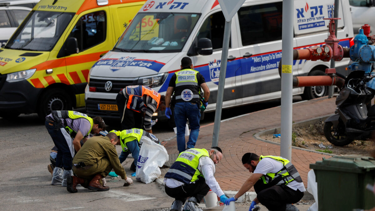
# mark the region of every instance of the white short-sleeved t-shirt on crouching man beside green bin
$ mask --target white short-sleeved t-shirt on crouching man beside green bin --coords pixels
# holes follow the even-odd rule
[[[277,173],[283,168],[283,164],[280,161],[277,161],[273,158],[263,158],[259,161],[257,167],[254,170],[254,173],[260,173],[266,175],[267,173]],[[296,180],[291,181],[287,185],[293,190],[300,190],[301,192],[306,191],[305,185],[303,182],[297,182]]]

